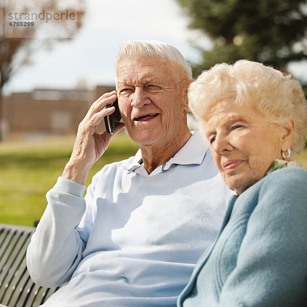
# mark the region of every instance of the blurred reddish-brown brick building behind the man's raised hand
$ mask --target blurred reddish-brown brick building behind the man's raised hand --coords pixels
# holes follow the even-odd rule
[[[96,86],[94,90],[35,89],[3,97],[2,139],[75,134],[90,105],[113,90],[115,86]]]

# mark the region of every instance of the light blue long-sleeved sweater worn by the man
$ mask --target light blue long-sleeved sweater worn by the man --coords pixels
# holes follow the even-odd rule
[[[107,165],[85,199],[80,185],[59,178],[27,254],[36,283],[70,279],[44,306],[176,306],[229,196],[201,147],[199,163],[149,177],[127,171],[135,157]]]

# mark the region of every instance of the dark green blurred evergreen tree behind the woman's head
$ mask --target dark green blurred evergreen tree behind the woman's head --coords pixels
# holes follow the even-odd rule
[[[302,0],[177,0],[191,29],[212,41],[193,64],[195,76],[219,62],[249,59],[286,71],[307,56],[307,5]]]

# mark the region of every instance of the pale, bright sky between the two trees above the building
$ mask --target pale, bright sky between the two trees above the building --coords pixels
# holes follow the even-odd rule
[[[188,23],[176,0],[86,0],[86,16],[77,37],[55,42],[50,51],[38,50],[32,64],[11,77],[4,93],[113,85],[113,62],[128,39],[161,40],[179,49],[188,61],[197,62],[200,54],[192,41],[207,48],[210,41],[187,30]]]

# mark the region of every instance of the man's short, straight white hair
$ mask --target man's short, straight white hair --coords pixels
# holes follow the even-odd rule
[[[119,47],[118,55],[115,59],[115,69],[117,64],[127,56],[157,56],[166,58],[177,64],[183,70],[184,75],[188,80],[192,79],[192,69],[183,55],[175,47],[168,45],[165,42],[157,40],[127,40]]]

